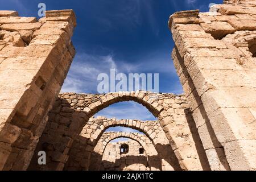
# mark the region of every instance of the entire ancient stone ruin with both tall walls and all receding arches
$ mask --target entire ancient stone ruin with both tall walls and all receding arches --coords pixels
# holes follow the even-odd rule
[[[75,56],[73,11],[0,11],[0,170],[255,170],[256,1],[180,11],[168,26],[184,94],[59,93]],[[94,117],[122,101],[157,120]],[[141,133],[106,131],[115,126]]]

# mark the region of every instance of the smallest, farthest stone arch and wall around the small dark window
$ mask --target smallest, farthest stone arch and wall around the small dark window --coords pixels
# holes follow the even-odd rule
[[[110,141],[116,138],[130,138],[133,142],[137,143],[137,148],[129,146],[129,152],[127,154],[120,154],[120,145],[116,145],[114,153],[117,153],[117,155],[109,158],[108,146],[111,144]],[[139,147],[143,148],[143,155],[139,155]],[[138,158],[137,156],[141,157]],[[142,163],[139,163],[139,160],[141,160]],[[158,152],[146,135],[123,132],[106,132],[102,134],[97,146],[94,148],[89,169],[102,170],[108,169],[109,167],[109,169],[117,167],[116,169],[123,170],[129,165],[141,167],[141,169],[146,169],[147,167],[148,170],[162,169]]]

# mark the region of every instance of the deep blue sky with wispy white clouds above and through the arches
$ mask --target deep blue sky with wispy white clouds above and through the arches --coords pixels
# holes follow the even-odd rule
[[[47,10],[73,9],[77,27],[72,38],[76,57],[64,82],[63,92],[97,93],[97,76],[115,68],[119,73],[159,73],[159,92],[182,93],[171,60],[174,42],[167,22],[181,10],[209,10],[221,0],[0,0],[1,10],[38,17],[38,4]],[[134,102],[111,105],[96,115],[154,120]],[[123,131],[119,127],[108,131]]]

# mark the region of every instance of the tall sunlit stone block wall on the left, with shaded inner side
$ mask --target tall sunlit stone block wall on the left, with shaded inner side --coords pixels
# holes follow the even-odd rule
[[[26,170],[75,49],[72,10],[0,11],[0,170]]]

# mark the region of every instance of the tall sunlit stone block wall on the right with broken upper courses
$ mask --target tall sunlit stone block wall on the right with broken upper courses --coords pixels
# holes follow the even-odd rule
[[[256,1],[170,16],[172,58],[212,170],[255,170]]]

